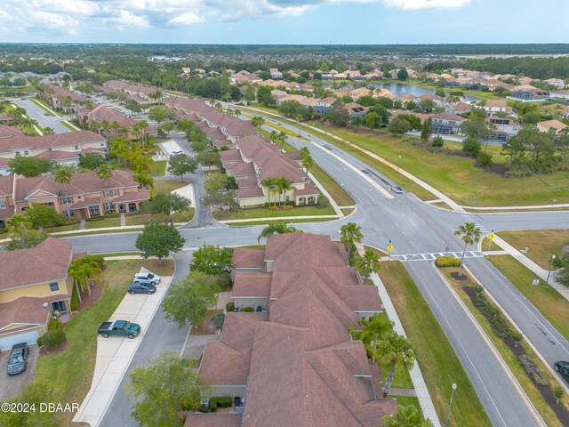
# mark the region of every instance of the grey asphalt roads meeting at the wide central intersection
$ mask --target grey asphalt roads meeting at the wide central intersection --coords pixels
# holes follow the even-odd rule
[[[309,135],[312,142],[307,143],[298,139],[289,139],[291,143],[300,147],[308,145],[311,149],[312,157],[318,165],[321,165],[334,179],[341,182],[345,189],[357,202],[357,211],[348,218],[334,222],[315,222],[299,223],[296,225],[302,230],[327,234],[332,238],[338,238],[338,230],[341,224],[346,222],[357,222],[362,225],[365,235],[364,243],[385,247],[389,240],[394,246],[393,254],[420,254],[442,252],[448,246],[451,251],[461,251],[462,245],[459,239],[453,237],[456,227],[465,221],[476,221],[480,226],[487,230],[532,230],[558,228],[563,224],[569,224],[569,212],[535,213],[535,214],[458,214],[437,207],[424,204],[413,194],[404,193],[387,198],[375,188],[375,185],[383,189],[389,188],[390,182],[380,173],[374,172],[373,168],[364,162],[351,157],[335,147],[331,147],[325,141],[321,141],[313,135]],[[325,147],[327,146],[327,147]],[[373,173],[363,173],[367,170]],[[374,184],[368,181],[372,178]],[[397,182],[396,182],[397,183]],[[197,224],[198,226],[201,224]],[[567,225],[565,225],[567,226]],[[180,230],[187,239],[187,249],[201,246],[204,241],[222,246],[249,245],[257,243],[257,236],[262,229],[261,226],[234,228],[208,226],[204,228],[190,228]],[[76,251],[90,250],[92,254],[131,251],[134,248],[134,240],[138,233],[108,234],[102,236],[84,236],[68,238],[75,244]],[[476,250],[476,248],[470,248]],[[188,255],[187,251],[180,254],[184,258]],[[481,267],[478,268],[478,265]],[[478,269],[488,269],[483,260],[469,260],[467,266],[472,266],[475,274]],[[465,312],[461,309],[452,294],[445,288],[444,282],[437,276],[436,271],[432,270],[429,262],[405,262],[406,268],[410,271],[422,294],[425,296],[431,310],[433,310],[437,320],[443,326],[445,333],[453,345],[453,349],[461,359],[462,366],[465,367],[473,386],[477,390],[485,409],[492,420],[493,425],[504,426],[531,426],[537,425],[533,421],[532,415],[525,401],[522,399],[505,374],[498,360],[489,350],[488,346],[477,334]],[[181,277],[181,270],[177,271],[177,277]],[[504,290],[502,306],[510,313],[517,313],[519,318],[539,318],[541,329],[556,336],[553,326],[549,325],[545,319],[540,318],[539,313],[529,304],[522,301],[514,294],[514,288],[505,279],[501,281],[490,273],[480,273],[480,279],[488,290],[494,292],[493,288]],[[493,285],[493,281],[495,285]],[[508,297],[508,293],[510,296]],[[527,339],[542,352],[549,363],[553,363],[559,358],[558,352],[562,345],[556,343],[553,346],[547,340],[538,340],[535,332],[536,326],[531,321],[520,321]],[[156,326],[155,326],[156,324]],[[160,331],[156,336],[150,333],[144,338],[143,345],[135,356],[134,364],[140,364],[143,360],[156,355],[164,348],[178,349],[180,342],[180,331],[176,331],[176,326],[164,323],[164,318],[157,315],[152,325],[154,331]],[[537,329],[539,331],[539,329]],[[158,336],[160,335],[160,336]],[[172,335],[172,336],[170,336]],[[155,341],[157,340],[157,341]],[[162,345],[162,341],[166,342]],[[559,342],[561,342],[559,340]],[[566,344],[566,342],[565,342]],[[564,344],[564,345],[565,345]],[[556,351],[551,350],[554,348]],[[566,348],[566,345],[565,345]],[[230,367],[228,367],[230,368]],[[113,423],[109,423],[110,418],[105,418],[106,424],[101,425],[124,425],[134,426],[130,420],[130,405],[122,393],[117,393],[111,404],[112,410],[108,417]]]

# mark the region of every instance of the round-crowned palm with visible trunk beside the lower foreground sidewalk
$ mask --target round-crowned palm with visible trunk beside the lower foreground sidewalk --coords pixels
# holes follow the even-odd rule
[[[387,334],[386,337],[378,343],[377,353],[381,363],[390,365],[389,374],[385,380],[383,387],[383,397],[386,398],[391,391],[393,383],[393,375],[396,368],[411,370],[415,363],[415,346],[403,335],[396,333]]]

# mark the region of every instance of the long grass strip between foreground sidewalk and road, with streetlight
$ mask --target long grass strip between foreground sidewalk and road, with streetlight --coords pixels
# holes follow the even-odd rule
[[[452,383],[458,385],[449,419],[452,426],[492,424],[460,360],[448,342],[421,291],[401,262],[381,262],[381,280],[416,346],[417,360],[440,420],[445,419]]]

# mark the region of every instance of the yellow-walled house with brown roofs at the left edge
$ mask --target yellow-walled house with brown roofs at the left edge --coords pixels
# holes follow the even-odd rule
[[[46,238],[31,249],[0,253],[0,350],[36,342],[52,316],[68,320],[71,289],[66,279],[72,246]]]

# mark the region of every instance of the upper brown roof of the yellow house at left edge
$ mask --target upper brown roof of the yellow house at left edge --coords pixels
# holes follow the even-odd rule
[[[0,253],[0,290],[64,280],[68,276],[72,246],[65,240],[46,238],[31,249]]]

